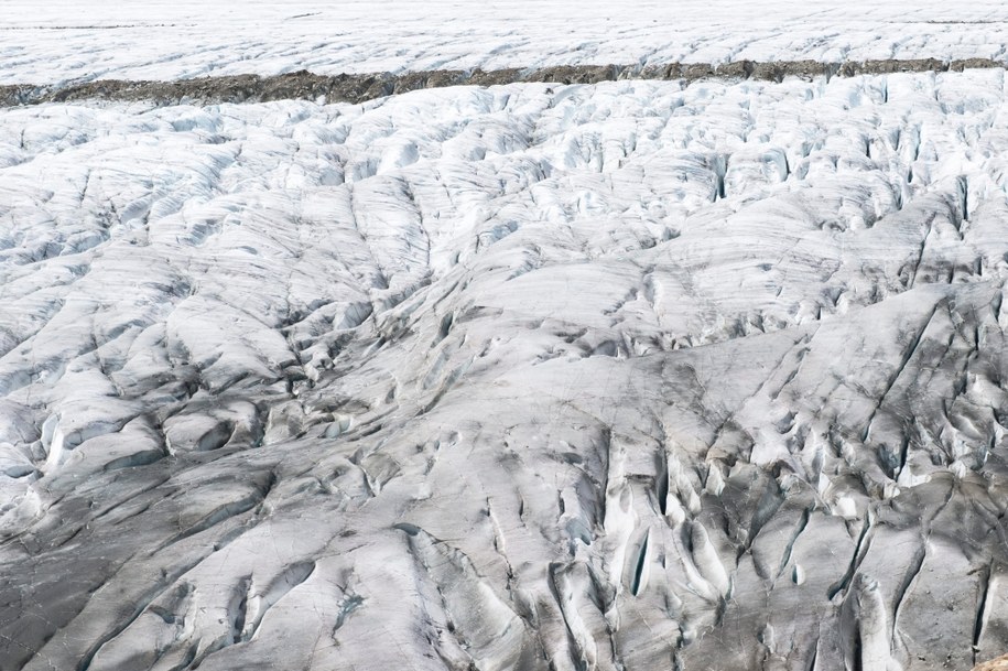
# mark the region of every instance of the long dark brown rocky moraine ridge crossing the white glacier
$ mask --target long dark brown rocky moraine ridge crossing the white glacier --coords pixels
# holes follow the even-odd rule
[[[356,104],[422,88],[459,85],[492,86],[519,82],[597,84],[617,79],[694,82],[708,78],[781,82],[785,77],[853,77],[892,73],[962,72],[975,68],[1005,68],[1006,66],[1008,64],[989,58],[963,61],[915,58],[847,63],[736,61],[720,65],[711,63],[671,63],[660,66],[559,65],[496,71],[437,69],[398,75],[390,73],[317,75],[301,71],[267,77],[229,75],[173,82],[101,79],[68,85],[11,84],[0,86],[0,107],[84,100],[149,101],[155,105],[216,105],[302,99]]]

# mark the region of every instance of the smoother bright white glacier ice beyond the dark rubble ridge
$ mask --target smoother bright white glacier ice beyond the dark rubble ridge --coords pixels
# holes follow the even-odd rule
[[[674,61],[1008,59],[1000,0],[0,2],[0,84]]]

